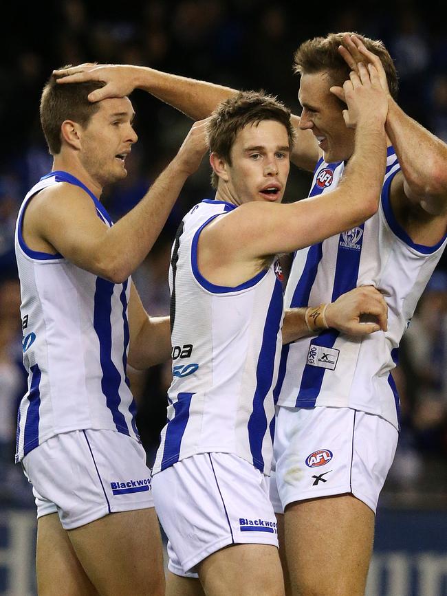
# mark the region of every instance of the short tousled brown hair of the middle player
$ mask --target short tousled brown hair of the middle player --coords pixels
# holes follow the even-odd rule
[[[207,131],[210,151],[231,165],[230,153],[237,133],[247,124],[259,124],[263,120],[276,120],[283,124],[292,149],[295,130],[290,122],[290,109],[263,91],[239,91],[221,102],[211,115]],[[214,188],[217,188],[218,181],[219,177],[212,172],[211,184]]]

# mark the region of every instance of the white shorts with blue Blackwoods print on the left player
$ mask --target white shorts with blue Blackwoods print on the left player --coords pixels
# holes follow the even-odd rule
[[[23,460],[37,518],[58,513],[66,530],[117,511],[153,507],[142,445],[113,430],[57,434]]]

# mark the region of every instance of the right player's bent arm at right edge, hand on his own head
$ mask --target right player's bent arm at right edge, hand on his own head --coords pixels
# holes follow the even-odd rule
[[[362,41],[355,35],[345,36],[345,47],[340,47],[340,54],[350,67],[356,60],[371,63],[379,72],[382,86],[388,91],[386,75],[380,58],[369,52]],[[427,214],[437,217],[447,214],[447,145],[410,118],[388,96],[389,110],[385,130],[395,148],[402,168],[403,193],[395,188],[395,195],[404,195],[408,203],[419,206]],[[393,192],[393,189],[392,189]],[[397,200],[399,197],[397,196]],[[421,225],[430,225],[430,218],[421,218]],[[435,230],[437,226],[435,225]],[[437,232],[433,242],[437,241]]]

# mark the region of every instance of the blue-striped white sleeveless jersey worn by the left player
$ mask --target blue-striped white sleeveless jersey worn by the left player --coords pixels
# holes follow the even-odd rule
[[[41,178],[21,205],[15,250],[28,392],[19,406],[16,461],[46,439],[71,430],[109,429],[138,439],[135,404],[125,374],[130,280],[113,284],[61,254],[31,250],[23,241],[28,201],[61,182],[83,188],[94,201],[98,217],[111,225],[93,193],[66,172]]]

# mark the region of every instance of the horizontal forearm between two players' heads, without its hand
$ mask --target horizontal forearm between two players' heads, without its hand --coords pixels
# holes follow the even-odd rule
[[[149,67],[135,67],[134,85],[182,111],[194,120],[206,118],[235,89],[211,82],[168,74]]]

